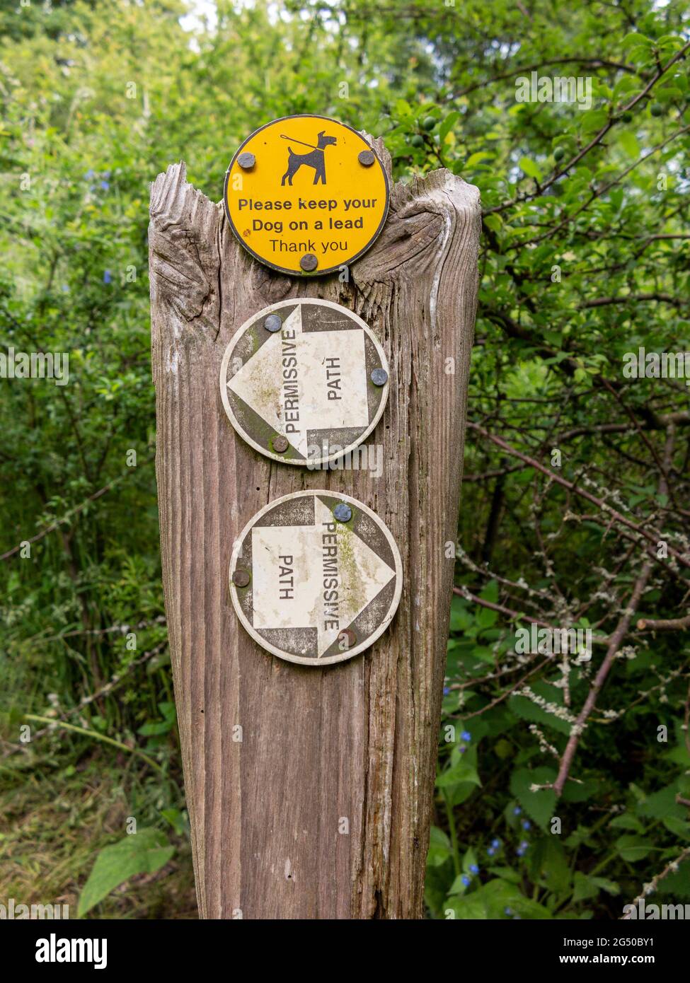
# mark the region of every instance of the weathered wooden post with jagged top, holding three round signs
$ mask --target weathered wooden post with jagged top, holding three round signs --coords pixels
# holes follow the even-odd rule
[[[202,917],[423,914],[479,226],[477,190],[435,171],[393,188],[383,232],[348,282],[299,279],[253,260],[222,204],[186,183],[183,163],[153,185],[160,546]],[[299,296],[342,304],[383,345],[390,395],[366,441],[383,446],[380,477],[271,461],[223,412],[232,334]],[[404,586],[368,652],[312,668],[259,648],[227,577],[233,542],[260,508],[319,488],[358,498],[386,523]]]

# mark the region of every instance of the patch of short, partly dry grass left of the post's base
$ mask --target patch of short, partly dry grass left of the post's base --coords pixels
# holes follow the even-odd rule
[[[114,750],[90,747],[77,760],[74,752],[71,744],[57,754],[41,747],[38,754],[8,755],[0,765],[0,903],[14,897],[69,904],[74,918],[96,854],[123,838],[129,817],[140,828],[163,825],[159,810],[168,803],[159,776]],[[167,834],[173,859],[156,874],[121,885],[89,917],[198,917],[189,842],[169,827]]]

